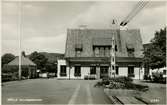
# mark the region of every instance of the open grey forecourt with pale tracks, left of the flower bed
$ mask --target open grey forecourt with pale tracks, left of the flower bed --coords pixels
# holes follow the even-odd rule
[[[2,104],[111,104],[96,80],[31,79],[5,83]]]

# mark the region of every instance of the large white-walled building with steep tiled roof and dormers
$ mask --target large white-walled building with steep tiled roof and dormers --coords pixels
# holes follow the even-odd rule
[[[143,79],[143,45],[139,29],[68,29],[65,58],[58,60],[58,79],[101,79],[111,69],[112,35],[115,34],[116,76]]]

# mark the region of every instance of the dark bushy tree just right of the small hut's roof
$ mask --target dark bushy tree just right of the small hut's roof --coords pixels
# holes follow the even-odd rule
[[[48,59],[44,55],[35,51],[30,54],[29,58],[37,65],[38,69],[45,69],[45,65]]]

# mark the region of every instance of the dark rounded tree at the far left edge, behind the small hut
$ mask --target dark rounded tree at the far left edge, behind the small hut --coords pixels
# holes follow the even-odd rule
[[[15,58],[15,55],[13,55],[13,54],[11,54],[11,53],[4,54],[4,55],[1,57],[2,67],[3,67],[5,64],[8,64],[9,62],[11,62],[14,58]]]

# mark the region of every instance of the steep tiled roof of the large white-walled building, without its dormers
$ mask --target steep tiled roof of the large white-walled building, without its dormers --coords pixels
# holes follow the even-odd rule
[[[75,57],[75,45],[82,44],[81,57],[93,57],[93,45],[111,45],[113,33],[116,33],[117,57],[128,57],[128,47],[134,47],[135,57],[142,57],[142,39],[140,31],[112,29],[68,29],[65,57]]]

